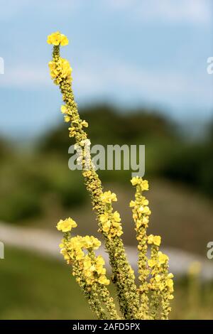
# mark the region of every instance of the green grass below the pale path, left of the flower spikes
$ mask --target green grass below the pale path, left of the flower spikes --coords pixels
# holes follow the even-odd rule
[[[65,263],[6,248],[1,265],[1,319],[89,319]]]

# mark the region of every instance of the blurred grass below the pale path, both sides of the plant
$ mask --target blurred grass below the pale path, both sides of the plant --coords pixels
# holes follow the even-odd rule
[[[8,247],[0,261],[1,319],[93,318],[65,263]],[[213,318],[212,300],[213,284],[181,279],[170,318]]]

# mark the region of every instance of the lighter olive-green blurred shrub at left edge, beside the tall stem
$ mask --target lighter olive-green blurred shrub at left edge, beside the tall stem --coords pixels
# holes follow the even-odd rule
[[[47,205],[80,205],[86,196],[80,178],[80,173],[70,173],[58,156],[23,155],[2,161],[0,219],[19,222],[44,215]]]

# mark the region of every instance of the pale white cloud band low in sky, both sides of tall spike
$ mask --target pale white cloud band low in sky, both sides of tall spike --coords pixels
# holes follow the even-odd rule
[[[110,99],[111,102],[148,103],[177,109],[211,108],[212,86],[206,72],[154,70],[114,58],[99,57],[99,62],[87,54],[87,62],[73,68],[73,88],[77,99]],[[17,90],[47,90],[52,87],[47,66],[19,64],[0,76],[0,86]]]

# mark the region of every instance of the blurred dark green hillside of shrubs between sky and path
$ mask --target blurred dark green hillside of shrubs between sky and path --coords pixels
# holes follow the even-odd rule
[[[107,105],[80,109],[89,122],[92,144],[146,145],[146,178],[166,178],[213,196],[213,126],[206,139],[187,141],[178,126],[156,111],[121,110]],[[62,117],[59,125],[35,141],[31,150],[0,139],[0,220],[31,222],[54,205],[59,214],[87,200],[80,171],[70,171],[72,139]],[[12,149],[13,147],[13,149]],[[129,185],[130,171],[99,171],[105,182]]]

